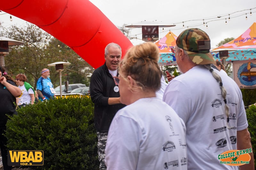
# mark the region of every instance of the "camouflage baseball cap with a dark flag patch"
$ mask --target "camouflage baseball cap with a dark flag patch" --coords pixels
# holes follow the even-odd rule
[[[189,58],[196,64],[215,64],[210,53],[210,38],[204,31],[198,28],[184,30],[176,39],[176,45],[188,52]]]

